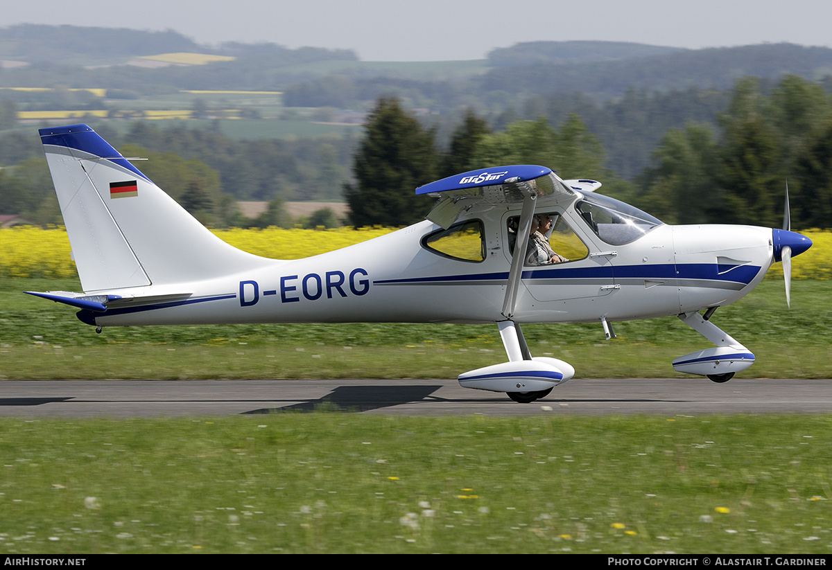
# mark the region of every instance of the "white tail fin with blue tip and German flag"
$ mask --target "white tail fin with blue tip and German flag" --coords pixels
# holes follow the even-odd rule
[[[210,233],[87,125],[40,135],[84,292],[187,283],[271,261]]]

